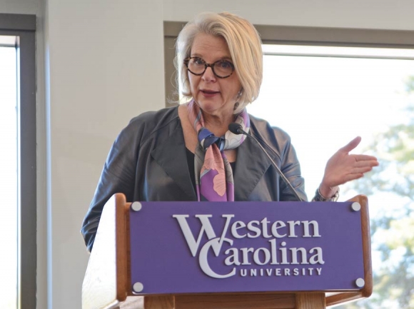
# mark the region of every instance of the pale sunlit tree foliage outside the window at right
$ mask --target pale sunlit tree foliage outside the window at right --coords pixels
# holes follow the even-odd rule
[[[369,147],[380,166],[347,186],[368,199],[380,193],[398,199],[371,216],[373,254],[380,259],[379,267],[374,268],[373,295],[338,308],[414,308],[414,76],[405,85],[407,117],[378,133]]]

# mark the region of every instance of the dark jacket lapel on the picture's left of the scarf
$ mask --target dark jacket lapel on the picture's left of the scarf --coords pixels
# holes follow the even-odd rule
[[[184,143],[183,129],[179,121],[176,128],[171,131],[170,136],[151,151],[151,156],[186,193],[188,196],[186,200],[197,199],[196,191],[193,188],[193,182],[188,172],[186,145]]]

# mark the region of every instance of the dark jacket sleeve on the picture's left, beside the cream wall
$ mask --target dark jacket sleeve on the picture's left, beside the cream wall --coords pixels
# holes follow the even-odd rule
[[[131,121],[119,133],[108,153],[94,198],[81,228],[89,251],[94,245],[102,209],[109,198],[115,193],[125,194],[127,201],[131,201],[133,197],[139,139],[137,121]]]

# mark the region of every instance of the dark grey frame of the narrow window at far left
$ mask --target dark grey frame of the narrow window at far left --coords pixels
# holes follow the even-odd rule
[[[36,308],[36,15],[0,14],[0,36],[16,36],[19,69],[20,209],[18,308]]]

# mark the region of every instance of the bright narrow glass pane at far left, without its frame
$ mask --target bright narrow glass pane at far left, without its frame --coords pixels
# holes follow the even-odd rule
[[[0,37],[0,190],[5,206],[0,216],[0,244],[1,248],[6,248],[0,265],[3,278],[0,280],[0,290],[5,295],[0,298],[0,308],[17,307],[17,61],[14,44],[10,44],[15,39],[13,36]]]

